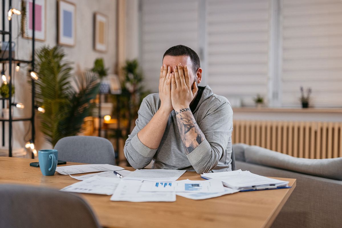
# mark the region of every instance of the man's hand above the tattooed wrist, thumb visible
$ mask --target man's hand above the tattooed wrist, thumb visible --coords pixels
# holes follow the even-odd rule
[[[198,91],[196,82],[194,82],[193,87],[194,89],[191,89],[187,66],[184,65],[184,71],[181,63],[174,66],[171,79],[171,102],[176,113],[182,112],[182,110],[190,110],[190,103]]]

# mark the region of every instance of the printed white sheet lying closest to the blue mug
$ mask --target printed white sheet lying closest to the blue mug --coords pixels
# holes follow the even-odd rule
[[[63,175],[78,174],[78,173],[93,173],[102,171],[117,171],[123,170],[122,167],[109,164],[86,164],[86,165],[67,165],[59,166],[56,171]]]

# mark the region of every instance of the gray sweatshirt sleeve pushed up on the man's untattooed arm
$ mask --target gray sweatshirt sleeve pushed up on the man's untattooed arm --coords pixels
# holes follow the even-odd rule
[[[142,169],[148,165],[157,151],[157,149],[150,149],[145,146],[137,135],[154,115],[152,107],[148,104],[146,98],[148,97],[145,97],[140,105],[138,118],[135,121],[135,127],[132,133],[128,135],[123,148],[125,157],[134,169]]]

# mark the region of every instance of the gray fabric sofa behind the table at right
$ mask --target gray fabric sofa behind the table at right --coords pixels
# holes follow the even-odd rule
[[[294,158],[246,144],[234,144],[233,151],[236,169],[297,179],[297,186],[273,228],[342,227],[342,158]]]

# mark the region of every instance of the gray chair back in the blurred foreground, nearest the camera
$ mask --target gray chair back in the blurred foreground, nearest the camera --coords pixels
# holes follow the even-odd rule
[[[0,228],[94,228],[90,206],[80,197],[26,185],[0,185]]]

